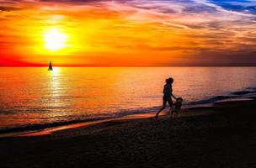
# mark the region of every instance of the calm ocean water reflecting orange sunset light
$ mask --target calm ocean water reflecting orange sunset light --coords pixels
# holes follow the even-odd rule
[[[0,133],[156,112],[165,79],[184,108],[254,97],[256,67],[2,67]]]

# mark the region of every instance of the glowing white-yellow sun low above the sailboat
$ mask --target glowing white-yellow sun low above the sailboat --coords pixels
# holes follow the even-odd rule
[[[47,50],[61,50],[67,46],[67,34],[58,28],[46,29],[44,39]]]

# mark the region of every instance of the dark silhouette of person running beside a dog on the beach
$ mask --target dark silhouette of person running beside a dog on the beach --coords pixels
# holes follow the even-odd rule
[[[170,106],[170,111],[171,111],[172,106],[173,106],[172,97],[174,99],[177,99],[176,97],[173,96],[173,78],[169,77],[168,79],[165,80],[165,82],[166,82],[166,84],[163,87],[163,106],[157,112],[156,119],[158,118],[159,113],[162,112],[164,108],[166,108],[167,102]]]

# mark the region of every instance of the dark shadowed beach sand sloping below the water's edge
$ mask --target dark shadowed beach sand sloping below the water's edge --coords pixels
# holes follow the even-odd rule
[[[255,121],[255,100],[218,102],[3,138],[0,167],[255,167]]]

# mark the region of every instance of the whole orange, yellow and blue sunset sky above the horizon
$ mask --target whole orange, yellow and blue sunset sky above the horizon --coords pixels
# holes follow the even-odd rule
[[[256,1],[0,0],[0,66],[256,66]]]

